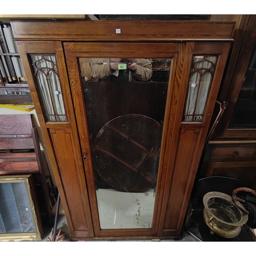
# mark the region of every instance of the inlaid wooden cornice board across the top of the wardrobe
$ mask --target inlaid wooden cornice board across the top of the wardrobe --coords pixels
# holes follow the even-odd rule
[[[11,22],[15,39],[166,41],[232,38],[235,22],[166,20],[47,20]],[[117,34],[116,29],[121,29]]]

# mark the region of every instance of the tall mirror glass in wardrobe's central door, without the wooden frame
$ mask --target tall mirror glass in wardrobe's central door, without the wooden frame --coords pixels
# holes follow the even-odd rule
[[[102,229],[152,228],[171,62],[79,59]]]

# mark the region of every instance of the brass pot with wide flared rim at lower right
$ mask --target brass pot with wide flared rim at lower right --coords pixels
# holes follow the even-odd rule
[[[241,232],[241,227],[248,220],[233,202],[232,198],[224,193],[212,191],[203,197],[203,218],[211,233],[224,238],[234,238]],[[242,204],[240,204],[242,208]]]

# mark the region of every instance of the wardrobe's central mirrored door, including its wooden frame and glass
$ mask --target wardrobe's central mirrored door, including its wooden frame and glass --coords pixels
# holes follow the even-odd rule
[[[110,45],[113,49],[108,43],[65,43],[68,68],[69,59],[72,65],[77,60],[69,77],[73,97],[83,102],[74,105],[83,122],[78,130],[94,231],[155,234],[178,44],[116,43],[116,53],[109,52]]]

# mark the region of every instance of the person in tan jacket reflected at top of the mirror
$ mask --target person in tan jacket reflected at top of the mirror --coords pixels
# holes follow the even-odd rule
[[[152,77],[152,59],[91,58],[89,62],[92,76],[101,81],[148,81]]]

